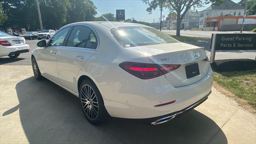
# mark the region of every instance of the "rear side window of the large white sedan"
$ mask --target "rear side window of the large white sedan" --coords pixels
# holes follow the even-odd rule
[[[97,38],[88,26],[74,26],[66,46],[96,49]]]

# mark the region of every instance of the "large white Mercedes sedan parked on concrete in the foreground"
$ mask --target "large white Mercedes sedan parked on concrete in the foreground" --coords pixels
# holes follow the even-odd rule
[[[35,78],[47,78],[78,96],[92,124],[110,116],[162,124],[211,93],[204,48],[149,26],[78,22],[37,46],[32,52]]]

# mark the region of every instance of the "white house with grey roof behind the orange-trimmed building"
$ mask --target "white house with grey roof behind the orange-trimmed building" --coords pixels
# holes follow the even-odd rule
[[[243,16],[244,6],[240,6],[232,0],[224,0],[222,4],[213,7],[209,6],[205,10],[200,11],[199,13],[199,28],[203,29],[205,27],[205,18],[222,15]]]

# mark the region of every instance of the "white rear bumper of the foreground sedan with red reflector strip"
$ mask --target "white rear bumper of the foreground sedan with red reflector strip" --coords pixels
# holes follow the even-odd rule
[[[144,119],[165,116],[193,105],[211,92],[212,81],[209,66],[207,74],[201,80],[186,86],[173,87],[164,76],[140,80],[136,84],[133,80],[126,80],[97,86],[110,116]],[[156,107],[174,100],[172,104]]]

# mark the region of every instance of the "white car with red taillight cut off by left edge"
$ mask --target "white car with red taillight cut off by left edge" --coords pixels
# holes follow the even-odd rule
[[[30,47],[25,38],[0,31],[0,57],[16,58],[20,53],[29,52],[29,50]]]

